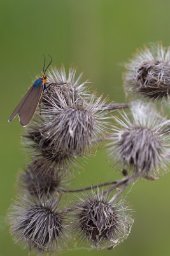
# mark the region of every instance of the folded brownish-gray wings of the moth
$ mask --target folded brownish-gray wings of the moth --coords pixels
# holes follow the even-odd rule
[[[12,115],[10,116],[9,122],[15,118],[18,114],[20,118],[20,124],[26,126],[31,121],[34,115],[41,95],[43,93],[44,86],[32,86],[29,91],[25,94],[24,98],[18,104],[17,108],[14,109]]]

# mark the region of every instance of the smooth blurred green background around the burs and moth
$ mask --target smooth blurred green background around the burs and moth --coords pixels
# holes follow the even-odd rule
[[[42,54],[53,64],[70,64],[83,71],[99,93],[124,102],[124,61],[136,48],[161,40],[169,45],[170,2],[167,0],[1,0],[1,179],[0,256],[24,256],[15,245],[5,221],[15,198],[17,173],[25,163],[20,145],[24,128],[16,118],[8,124],[13,108],[41,73]],[[75,174],[74,188],[117,179],[104,150]],[[113,251],[69,251],[64,255],[169,255],[170,174],[155,182],[140,180],[127,196],[134,209],[131,235]],[[57,253],[55,253],[57,255]]]

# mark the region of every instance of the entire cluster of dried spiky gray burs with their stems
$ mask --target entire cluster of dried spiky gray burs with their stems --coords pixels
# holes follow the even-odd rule
[[[138,96],[129,104],[97,97],[74,68],[68,76],[64,67],[48,72],[51,86],[22,136],[31,163],[18,177],[20,195],[10,209],[11,234],[30,250],[52,253],[71,243],[114,248],[133,223],[125,189],[140,177],[155,180],[167,171],[170,120],[157,109],[169,100],[170,49],[157,44],[139,51],[126,68],[125,92]],[[123,177],[68,188],[80,160],[104,145]]]

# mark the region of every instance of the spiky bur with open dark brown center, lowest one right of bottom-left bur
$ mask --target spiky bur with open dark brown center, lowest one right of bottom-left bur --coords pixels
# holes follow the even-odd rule
[[[133,220],[123,200],[109,202],[109,196],[94,190],[78,199],[73,212],[76,241],[98,249],[112,249],[131,232]]]

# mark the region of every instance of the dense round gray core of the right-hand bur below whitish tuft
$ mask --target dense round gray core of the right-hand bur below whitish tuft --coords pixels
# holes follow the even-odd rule
[[[141,172],[148,172],[159,164],[162,140],[148,128],[133,127],[122,132],[118,152],[122,155],[122,161],[130,168],[136,166]]]

